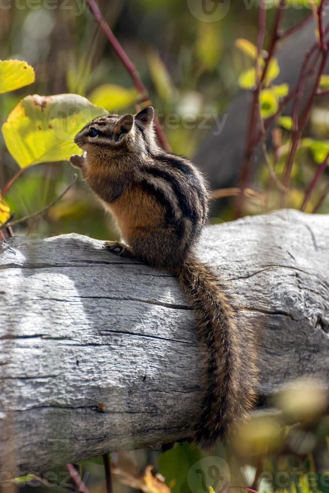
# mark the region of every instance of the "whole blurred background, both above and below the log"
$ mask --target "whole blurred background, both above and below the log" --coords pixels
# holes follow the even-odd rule
[[[302,2],[295,4],[295,8],[289,8],[285,13],[284,28],[289,28],[309,14],[309,9],[303,8]],[[234,43],[238,38],[256,43],[258,6],[257,2],[230,2],[225,14],[223,11],[220,19],[216,19],[211,15],[201,16],[195,5],[192,0],[99,1],[105,19],[134,62],[149,91],[149,99],[173,152],[194,158],[205,174],[210,189],[221,190],[237,187],[239,182],[251,99],[250,92],[241,90],[238,79],[243,70],[253,65],[253,61],[238,50]],[[221,8],[226,8],[227,2],[223,5]],[[272,26],[274,14],[274,10],[269,9],[268,26]],[[280,46],[278,58],[281,72],[278,83],[296,83],[302,59],[310,40],[314,39],[314,24],[310,23]],[[269,34],[266,35],[265,45],[268,40]],[[129,74],[95,23],[86,2],[82,0],[57,4],[47,3],[46,0],[33,0],[30,3],[1,0],[0,59],[7,58],[27,61],[35,69],[36,80],[28,88],[0,95],[1,124],[27,94],[77,93],[111,112],[135,112],[138,98]],[[113,88],[106,86],[109,84],[119,86],[121,92],[116,88],[112,94]],[[305,91],[307,93],[307,87]],[[305,136],[317,139],[324,146],[329,137],[327,108],[326,97],[315,102],[305,132]],[[287,112],[289,114],[289,107]],[[287,157],[289,131],[279,128],[277,132],[281,150],[276,158],[276,171],[280,174]],[[270,158],[274,161],[273,135],[268,139],[268,146]],[[317,167],[315,157],[309,147],[299,149],[287,206],[299,208]],[[19,166],[7,151],[0,134],[0,188],[18,171]],[[60,195],[72,180],[73,174],[68,161],[32,166],[15,180],[6,194],[6,201],[11,210],[16,212],[16,218],[28,215],[42,209]],[[320,195],[324,194],[317,212],[329,212],[329,200],[325,195],[328,183],[326,170],[306,211],[312,212]],[[261,153],[257,157],[250,187],[256,193],[246,198],[243,214],[263,213],[277,208],[273,187],[269,187],[268,168]],[[235,197],[229,194],[214,200],[210,222],[233,219],[234,201]],[[111,218],[101,209],[80,176],[62,200],[45,214],[22,223],[14,232],[41,237],[71,232],[99,239],[117,237]],[[316,392],[313,398],[311,393],[308,395],[314,403],[316,414],[318,396]],[[307,403],[296,399],[298,409],[303,406],[307,408]],[[322,403],[318,406],[321,408]],[[238,484],[256,484],[262,491],[327,493],[328,485],[315,481],[310,486],[304,479],[301,481],[297,477],[295,480],[293,476],[294,468],[305,473],[312,471],[314,461],[319,464],[316,470],[323,474],[329,470],[325,438],[327,421],[318,420],[315,427],[304,423],[294,428],[289,427],[289,419],[284,422],[280,420],[276,416],[257,418],[248,433],[244,431],[243,440],[237,439],[233,449],[225,451],[219,445],[216,454],[206,454],[195,447],[191,451],[186,444],[169,448],[168,451],[143,450],[113,454],[112,460],[117,470],[114,473],[114,489],[129,491],[135,484],[135,489],[167,492],[168,489],[160,485],[161,479],[153,486],[145,485],[145,481],[140,479],[146,465],[152,464],[156,471],[166,475],[166,479],[171,479],[173,491],[191,491],[191,484],[186,482],[190,467],[204,457],[219,454],[230,463],[231,472],[237,471],[234,477],[240,481]],[[314,450],[317,455],[310,454]],[[159,459],[161,453],[162,459]],[[79,465],[82,474],[89,473],[87,482],[92,493],[105,491],[102,464],[100,458]],[[207,481],[210,483],[213,480],[215,485],[218,469],[211,467],[213,464],[210,460],[205,466],[210,471]],[[120,477],[120,470],[125,471],[122,473],[123,478],[122,475]],[[59,475],[57,477],[63,471],[65,469],[55,471]],[[129,479],[127,471],[133,479]],[[180,471],[184,476],[181,483]],[[272,474],[272,480],[264,480],[261,484],[257,475],[262,471]],[[275,483],[273,475],[277,471],[285,471],[288,482],[283,485]],[[134,478],[139,478],[141,482],[134,483]],[[26,480],[23,478],[17,481],[15,488],[35,490],[37,486],[40,490],[49,490],[49,484],[37,480],[27,485]],[[69,484],[72,487],[70,480]],[[62,486],[52,487],[63,490]],[[199,486],[195,488],[192,488],[193,493],[205,491]]]

